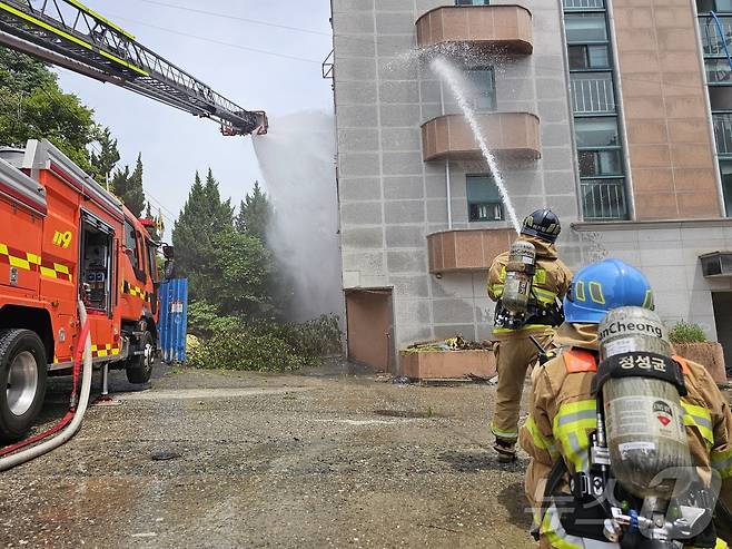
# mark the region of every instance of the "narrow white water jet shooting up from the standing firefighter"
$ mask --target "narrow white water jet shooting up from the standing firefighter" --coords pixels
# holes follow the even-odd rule
[[[506,184],[503,179],[503,175],[498,169],[498,163],[496,161],[495,156],[488,148],[488,145],[485,143],[485,138],[483,137],[483,133],[481,131],[481,126],[478,125],[478,120],[477,117],[475,116],[475,111],[473,110],[473,107],[471,107],[471,104],[467,100],[467,97],[465,96],[463,86],[461,86],[463,78],[459,71],[443,57],[436,57],[435,59],[433,59],[431,67],[449,86],[451,91],[455,96],[455,99],[457,100],[457,105],[459,106],[461,110],[465,115],[465,118],[467,119],[467,122],[471,126],[471,129],[473,130],[475,140],[478,143],[478,146],[481,147],[481,153],[483,153],[483,157],[488,164],[488,168],[491,169],[491,174],[493,175],[496,187],[498,187],[501,199],[503,200],[503,204],[506,207],[508,219],[511,220],[511,224],[513,225],[516,233],[520,233],[521,223],[518,223],[516,210],[514,209],[513,203],[511,202],[511,197],[508,196],[508,189],[506,188]]]

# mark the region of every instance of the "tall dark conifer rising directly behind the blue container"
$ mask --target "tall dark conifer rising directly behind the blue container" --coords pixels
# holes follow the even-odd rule
[[[172,228],[176,271],[188,277],[191,300],[208,295],[215,268],[215,236],[233,228],[230,199],[221,202],[218,183],[208,170],[206,184],[196,173],[178,219]]]

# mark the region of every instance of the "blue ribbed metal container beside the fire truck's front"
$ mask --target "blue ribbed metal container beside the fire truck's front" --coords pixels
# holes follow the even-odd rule
[[[162,360],[186,362],[186,329],[188,325],[188,280],[170,278],[160,283],[160,350]]]

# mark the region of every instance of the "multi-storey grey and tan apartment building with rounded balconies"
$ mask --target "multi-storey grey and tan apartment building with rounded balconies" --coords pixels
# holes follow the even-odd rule
[[[574,269],[642,268],[732,363],[732,0],[333,0],[333,30],[352,359],[489,337],[487,267],[515,237],[422,48],[471,82],[518,216],[556,212]]]

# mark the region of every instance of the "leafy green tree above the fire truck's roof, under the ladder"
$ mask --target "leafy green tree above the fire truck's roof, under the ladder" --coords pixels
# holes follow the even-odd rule
[[[87,150],[95,135],[93,111],[65,94],[44,63],[0,47],[0,145],[46,138],[96,175]]]

